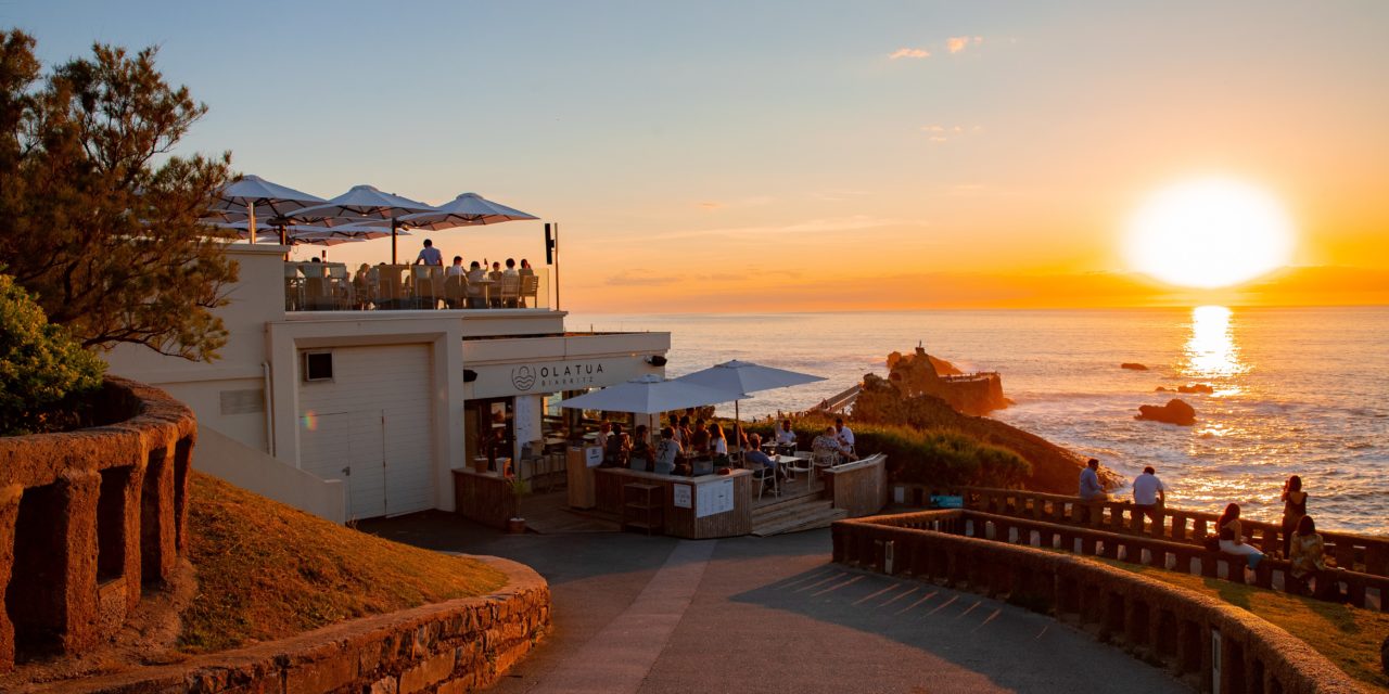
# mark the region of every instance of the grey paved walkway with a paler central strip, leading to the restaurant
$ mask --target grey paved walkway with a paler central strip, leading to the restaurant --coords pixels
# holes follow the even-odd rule
[[[1190,691],[1046,616],[829,562],[829,533],[504,536],[443,514],[365,530],[550,580],[551,634],[492,691]]]

